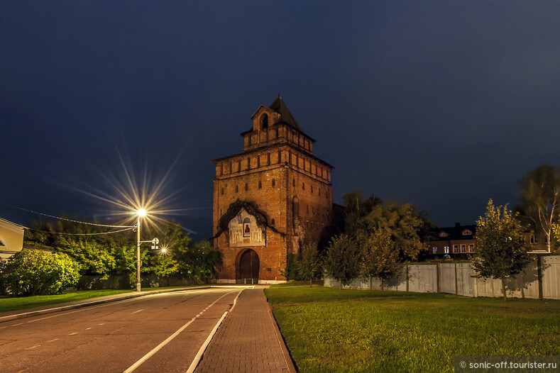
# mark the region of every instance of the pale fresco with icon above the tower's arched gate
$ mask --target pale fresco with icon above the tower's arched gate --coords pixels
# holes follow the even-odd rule
[[[265,246],[266,236],[264,229],[257,224],[255,216],[241,208],[237,215],[229,221],[229,246]]]

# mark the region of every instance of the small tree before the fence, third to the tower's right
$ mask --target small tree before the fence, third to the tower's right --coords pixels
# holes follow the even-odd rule
[[[402,270],[395,243],[385,230],[374,230],[358,238],[362,250],[361,270],[366,277],[379,277],[381,291],[383,280],[396,277]]]

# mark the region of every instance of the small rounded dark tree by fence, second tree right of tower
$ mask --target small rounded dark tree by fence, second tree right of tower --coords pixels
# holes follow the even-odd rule
[[[338,235],[327,247],[324,269],[334,279],[339,280],[339,288],[349,284],[360,274],[360,250],[348,235]]]

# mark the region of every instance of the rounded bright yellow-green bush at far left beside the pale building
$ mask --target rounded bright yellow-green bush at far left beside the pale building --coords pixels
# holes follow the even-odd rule
[[[77,284],[79,266],[62,252],[21,250],[11,257],[3,277],[12,295],[60,294]]]

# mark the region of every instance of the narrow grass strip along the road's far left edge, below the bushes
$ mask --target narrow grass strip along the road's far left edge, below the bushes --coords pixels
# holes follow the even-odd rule
[[[190,287],[189,286],[165,286],[165,287],[143,287],[142,291],[155,291],[162,289],[175,289]],[[33,308],[39,306],[48,306],[49,304],[58,304],[72,301],[82,301],[83,299],[97,298],[99,296],[107,296],[114,294],[131,293],[133,290],[76,290],[65,291],[57,295],[35,295],[35,296],[0,296],[0,312],[14,311],[25,308]]]

